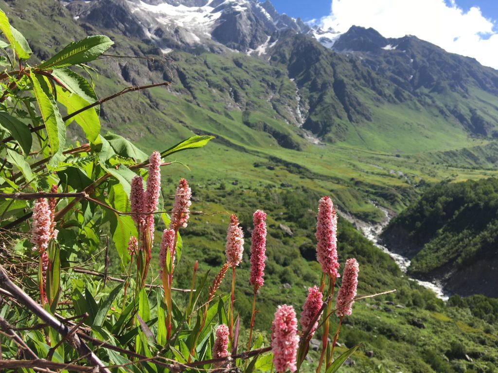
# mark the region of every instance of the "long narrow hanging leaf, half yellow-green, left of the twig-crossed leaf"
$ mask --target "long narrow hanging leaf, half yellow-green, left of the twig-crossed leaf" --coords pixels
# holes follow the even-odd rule
[[[66,126],[57,103],[42,76],[31,74],[30,79],[33,83],[33,93],[38,102],[43,123],[45,123],[52,154],[62,152],[62,148],[66,143]]]

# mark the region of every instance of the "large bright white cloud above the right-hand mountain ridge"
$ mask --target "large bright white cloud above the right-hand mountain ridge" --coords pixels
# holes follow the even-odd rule
[[[484,17],[479,7],[464,11],[450,1],[332,0],[331,14],[319,23],[339,32],[357,25],[373,27],[385,37],[415,35],[498,69],[496,21]]]

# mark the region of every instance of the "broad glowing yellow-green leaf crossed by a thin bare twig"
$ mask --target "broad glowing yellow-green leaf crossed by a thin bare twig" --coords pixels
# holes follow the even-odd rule
[[[62,103],[68,113],[73,113],[89,105],[89,102],[77,94],[71,93],[62,87],[57,86],[57,101]],[[94,142],[100,133],[99,116],[93,108],[82,111],[75,115],[74,120],[85,132],[85,136],[90,142]]]

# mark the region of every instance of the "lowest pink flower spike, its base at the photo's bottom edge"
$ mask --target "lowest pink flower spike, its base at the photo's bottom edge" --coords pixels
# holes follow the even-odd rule
[[[278,306],[271,325],[271,352],[278,373],[296,371],[296,354],[299,345],[296,312],[286,304]]]

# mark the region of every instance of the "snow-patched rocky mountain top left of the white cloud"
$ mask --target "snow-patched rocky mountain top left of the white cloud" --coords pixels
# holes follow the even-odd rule
[[[258,0],[73,0],[63,1],[73,17],[89,26],[118,29],[148,39],[163,52],[226,47],[262,54],[278,33],[311,33],[301,19],[279,14]]]

